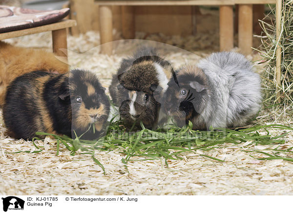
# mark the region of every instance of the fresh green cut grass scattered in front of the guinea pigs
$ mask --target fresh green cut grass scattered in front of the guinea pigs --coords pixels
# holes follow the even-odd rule
[[[281,135],[273,136],[270,132],[273,129],[283,129],[285,131]],[[140,156],[140,160],[164,158],[168,166],[168,159],[183,159],[182,154],[187,152],[199,154],[215,162],[224,162],[225,159],[212,157],[207,152],[217,148],[225,148],[229,144],[238,145],[240,149],[251,144],[281,145],[285,143],[283,138],[290,132],[288,130],[293,130],[293,128],[284,125],[256,125],[244,129],[223,128],[211,131],[198,131],[192,130],[192,124],[189,123],[186,128],[169,127],[167,130],[164,128],[153,131],[142,126],[141,130],[127,131],[121,121],[111,121],[106,135],[98,141],[80,140],[79,137],[71,139],[66,136],[44,132],[38,132],[38,134],[51,135],[56,138],[56,155],[59,154],[60,146],[63,145],[66,149],[70,150],[70,155],[90,155],[93,161],[105,173],[104,166],[94,157],[96,150],[120,150],[121,155],[124,156],[122,162],[126,165],[126,168],[128,161],[137,160],[137,158],[133,159],[135,156]],[[33,153],[44,151],[43,147],[37,146],[34,140],[32,143],[38,149]],[[259,160],[283,159],[293,161],[292,148],[268,148],[263,150],[251,148],[242,149],[242,151],[250,152],[251,157]]]

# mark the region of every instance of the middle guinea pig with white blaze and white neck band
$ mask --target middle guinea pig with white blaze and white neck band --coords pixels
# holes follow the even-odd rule
[[[146,128],[156,128],[160,103],[153,92],[160,88],[163,94],[173,75],[171,64],[158,56],[154,48],[142,47],[124,59],[109,87],[121,119],[129,125],[136,122],[139,126],[142,122]]]

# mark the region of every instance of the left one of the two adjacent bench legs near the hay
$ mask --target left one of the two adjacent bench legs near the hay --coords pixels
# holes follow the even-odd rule
[[[220,6],[220,51],[233,48],[233,6]]]

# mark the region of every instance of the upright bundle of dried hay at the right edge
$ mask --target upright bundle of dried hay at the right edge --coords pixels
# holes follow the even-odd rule
[[[275,17],[274,8],[270,15]],[[264,20],[265,20],[264,19]],[[261,21],[264,36],[261,36],[262,50],[259,50],[266,62],[263,73],[265,91],[264,104],[270,108],[275,120],[292,117],[293,114],[293,0],[283,0],[280,23],[272,20]],[[280,24],[280,36],[276,38],[277,24]],[[276,72],[277,48],[281,48],[281,73]],[[280,98],[278,98],[280,96]]]

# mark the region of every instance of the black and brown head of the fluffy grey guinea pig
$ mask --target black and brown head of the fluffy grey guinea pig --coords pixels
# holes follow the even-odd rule
[[[163,110],[179,127],[191,121],[193,129],[207,130],[201,115],[211,98],[211,88],[205,73],[198,67],[189,66],[176,70],[175,74],[176,81],[171,79],[164,93]]]

